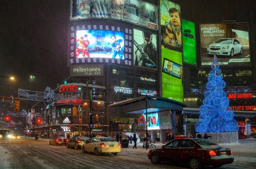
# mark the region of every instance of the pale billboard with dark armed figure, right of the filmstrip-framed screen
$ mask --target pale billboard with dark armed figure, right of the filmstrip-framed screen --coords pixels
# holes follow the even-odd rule
[[[134,29],[133,32],[133,64],[157,69],[156,35],[137,29]]]

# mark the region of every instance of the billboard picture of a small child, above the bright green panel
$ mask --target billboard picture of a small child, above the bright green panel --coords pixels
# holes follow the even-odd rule
[[[182,52],[182,20],[180,5],[160,1],[161,44],[166,49]]]

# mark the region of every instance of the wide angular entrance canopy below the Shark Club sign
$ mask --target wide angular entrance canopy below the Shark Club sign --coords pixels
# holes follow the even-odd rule
[[[147,105],[146,105],[147,100]],[[143,96],[111,104],[109,107],[121,107],[126,114],[145,114],[162,112],[166,110],[182,111],[185,104],[169,98]]]

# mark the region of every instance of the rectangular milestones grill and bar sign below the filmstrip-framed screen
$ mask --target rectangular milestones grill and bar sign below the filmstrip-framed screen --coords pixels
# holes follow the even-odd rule
[[[70,76],[103,76],[104,65],[70,65]]]

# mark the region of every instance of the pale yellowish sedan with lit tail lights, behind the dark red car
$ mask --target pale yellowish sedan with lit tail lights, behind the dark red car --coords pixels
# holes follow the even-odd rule
[[[95,155],[101,153],[113,153],[118,155],[121,151],[119,142],[109,137],[92,137],[82,144],[82,152],[94,152]]]

